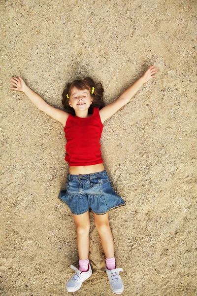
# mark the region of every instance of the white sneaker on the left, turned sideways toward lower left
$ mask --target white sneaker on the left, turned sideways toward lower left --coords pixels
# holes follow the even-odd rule
[[[87,280],[92,274],[92,268],[89,264],[88,271],[81,271],[74,267],[72,264],[70,265],[75,271],[75,274],[71,277],[71,279],[67,282],[66,290],[67,292],[75,292],[81,288],[82,283]]]

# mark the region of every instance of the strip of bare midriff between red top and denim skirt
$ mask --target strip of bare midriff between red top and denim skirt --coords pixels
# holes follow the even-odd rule
[[[68,173],[71,175],[87,175],[99,173],[104,170],[103,163],[84,166],[69,166]]]

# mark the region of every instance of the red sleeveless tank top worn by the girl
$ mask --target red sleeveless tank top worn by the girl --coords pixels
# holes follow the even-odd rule
[[[69,114],[64,128],[67,141],[65,160],[69,165],[103,163],[99,143],[102,129],[99,108],[94,107],[93,114],[86,118]]]

